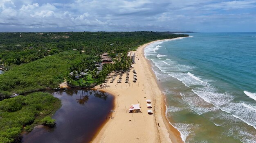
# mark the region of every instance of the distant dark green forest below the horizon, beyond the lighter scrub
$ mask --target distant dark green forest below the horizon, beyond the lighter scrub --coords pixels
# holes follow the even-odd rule
[[[156,39],[185,36],[188,35],[145,31],[0,33],[0,59],[5,65],[17,65],[73,49],[94,56],[103,52],[122,53]]]

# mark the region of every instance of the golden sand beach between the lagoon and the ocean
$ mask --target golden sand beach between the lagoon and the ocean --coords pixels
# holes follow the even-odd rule
[[[158,40],[161,41],[161,40]],[[153,43],[156,41],[152,41]],[[95,87],[115,96],[115,110],[110,118],[95,135],[92,143],[181,143],[180,133],[168,123],[165,117],[166,106],[150,62],[144,57],[144,48],[150,43],[139,46],[134,68],[130,70],[129,83],[114,83],[110,80],[106,87]],[[137,82],[132,82],[133,72],[137,73]],[[113,74],[112,74],[113,75]],[[147,108],[146,100],[150,99],[152,107]],[[129,113],[131,104],[140,104],[141,113]],[[153,110],[153,115],[148,114]],[[159,124],[159,126],[158,126]]]

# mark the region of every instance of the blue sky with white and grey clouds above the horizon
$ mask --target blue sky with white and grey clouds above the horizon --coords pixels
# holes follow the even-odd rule
[[[0,0],[0,32],[256,32],[256,0]]]

